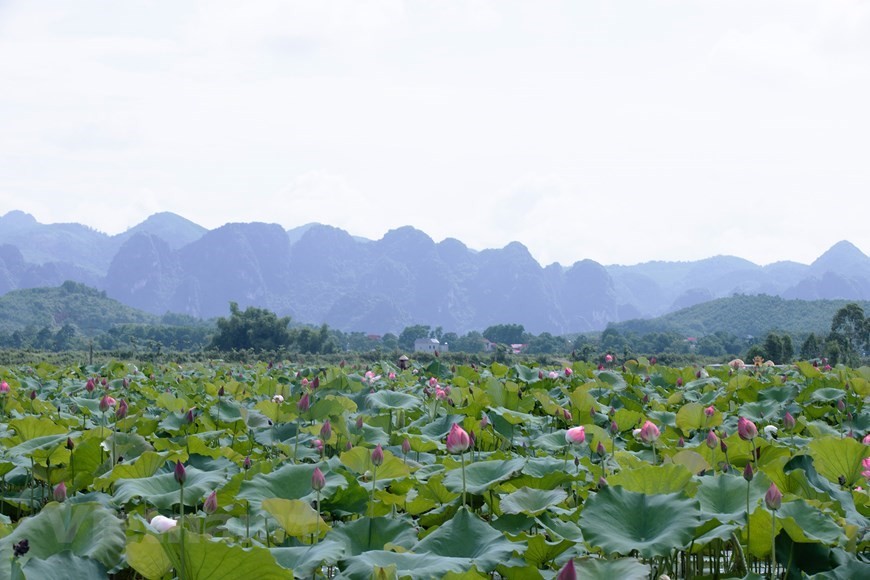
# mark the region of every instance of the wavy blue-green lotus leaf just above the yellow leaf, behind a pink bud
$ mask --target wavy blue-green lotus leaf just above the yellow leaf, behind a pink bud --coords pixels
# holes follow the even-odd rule
[[[236,497],[249,501],[255,510],[260,508],[263,500],[269,498],[313,499],[315,493],[311,488],[311,476],[314,475],[314,468],[318,466],[326,480],[326,485],[320,492],[321,497],[330,497],[338,488],[347,486],[344,477],[332,471],[328,464],[286,463],[276,471],[258,473],[243,481]],[[185,491],[185,495],[186,493]]]

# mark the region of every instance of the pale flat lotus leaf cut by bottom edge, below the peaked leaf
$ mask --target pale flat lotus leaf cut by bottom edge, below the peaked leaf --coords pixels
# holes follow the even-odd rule
[[[375,577],[429,580],[443,578],[449,572],[461,573],[471,568],[467,558],[447,558],[435,554],[396,553],[371,550],[339,562],[342,578],[370,580]],[[391,571],[378,575],[378,570]]]

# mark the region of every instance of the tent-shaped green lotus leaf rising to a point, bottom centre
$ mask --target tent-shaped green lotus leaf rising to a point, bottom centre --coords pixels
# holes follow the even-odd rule
[[[505,538],[488,523],[467,509],[460,509],[447,523],[420,540],[413,551],[468,558],[479,570],[491,572],[518,548],[521,546]]]

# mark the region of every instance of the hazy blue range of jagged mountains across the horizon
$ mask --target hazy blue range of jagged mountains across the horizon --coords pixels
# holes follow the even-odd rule
[[[541,266],[518,242],[474,251],[412,227],[372,241],[321,224],[207,230],[158,213],[109,236],[82,224],[41,224],[20,211],[0,217],[0,294],[65,280],[154,314],[226,316],[235,301],[345,331],[428,324],[465,333],[520,323],[535,334],[565,334],[733,294],[870,300],[870,258],[842,241],[809,265],[716,256]]]

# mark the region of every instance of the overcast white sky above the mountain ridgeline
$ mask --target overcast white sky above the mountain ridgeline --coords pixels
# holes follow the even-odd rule
[[[870,253],[870,2],[0,0],[0,214]]]

